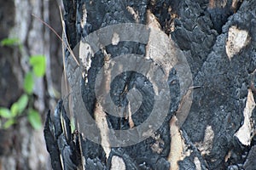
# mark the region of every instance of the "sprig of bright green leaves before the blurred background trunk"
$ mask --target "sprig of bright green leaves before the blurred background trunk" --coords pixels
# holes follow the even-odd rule
[[[18,38],[5,38],[0,42],[1,46],[19,46],[20,40]],[[4,119],[4,123],[0,122],[0,128],[9,128],[14,125],[19,117],[27,116],[28,122],[35,129],[42,127],[41,116],[38,111],[32,108],[30,105],[30,100],[32,100],[32,92],[34,88],[34,77],[44,77],[46,69],[46,59],[44,55],[32,55],[29,58],[29,64],[31,65],[31,71],[28,71],[25,75],[23,88],[24,94],[13,103],[10,108],[0,107],[0,117],[1,120]]]

